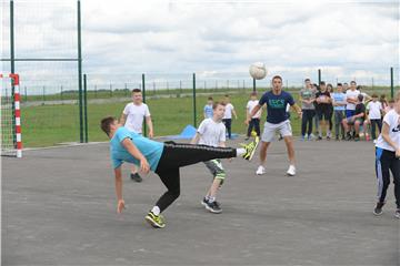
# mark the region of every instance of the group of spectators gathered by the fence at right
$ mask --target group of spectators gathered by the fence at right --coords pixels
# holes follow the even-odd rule
[[[304,88],[300,90],[299,102],[302,109],[301,140],[320,141],[332,139],[334,125],[334,139],[359,141],[364,136],[366,141],[377,140],[377,130],[380,133],[382,117],[390,111],[394,101],[389,102],[386,95],[371,96],[361,91],[356,81],[338,83],[336,89],[332,84],[321,81],[313,84],[310,79],[304,80]],[[316,135],[312,133],[316,126]]]

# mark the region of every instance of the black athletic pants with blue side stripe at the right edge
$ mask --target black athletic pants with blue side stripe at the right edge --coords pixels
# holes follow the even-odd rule
[[[393,175],[396,205],[398,208],[400,208],[400,160],[396,157],[394,152],[379,147],[377,149],[376,154],[378,202],[384,202],[390,184],[390,170]]]

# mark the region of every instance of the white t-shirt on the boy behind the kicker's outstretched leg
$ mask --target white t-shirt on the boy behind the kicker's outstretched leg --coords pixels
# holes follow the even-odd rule
[[[199,144],[219,146],[220,142],[226,141],[226,130],[222,122],[204,119],[197,131],[200,134]]]

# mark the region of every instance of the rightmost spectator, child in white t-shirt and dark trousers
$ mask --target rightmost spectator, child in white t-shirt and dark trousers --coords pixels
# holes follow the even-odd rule
[[[377,94],[372,94],[372,101],[370,101],[367,104],[367,113],[368,113],[368,117],[363,123],[363,129],[364,129],[364,133],[366,133],[366,141],[369,141],[369,136],[368,136],[368,131],[367,129],[369,127],[369,125],[371,125],[371,137],[373,141],[377,140],[377,125],[378,125],[378,131],[379,134],[381,133],[382,130],[382,112],[383,112],[383,108],[382,108],[382,103],[380,101],[378,101],[378,95]]]

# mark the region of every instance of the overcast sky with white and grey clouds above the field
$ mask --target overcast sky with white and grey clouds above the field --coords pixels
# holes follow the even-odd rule
[[[63,2],[74,8],[74,1]],[[264,62],[270,73],[302,76],[318,68],[336,76],[377,79],[390,66],[399,70],[398,0],[82,0],[81,4],[88,73],[247,73],[256,61]],[[74,30],[73,9],[49,10],[51,14],[38,24]],[[30,27],[21,30],[24,45],[18,54],[32,57],[40,32],[30,21],[18,23],[20,29]],[[63,44],[71,42],[73,48],[74,35],[66,39]],[[66,55],[57,41],[39,40],[48,55]]]

